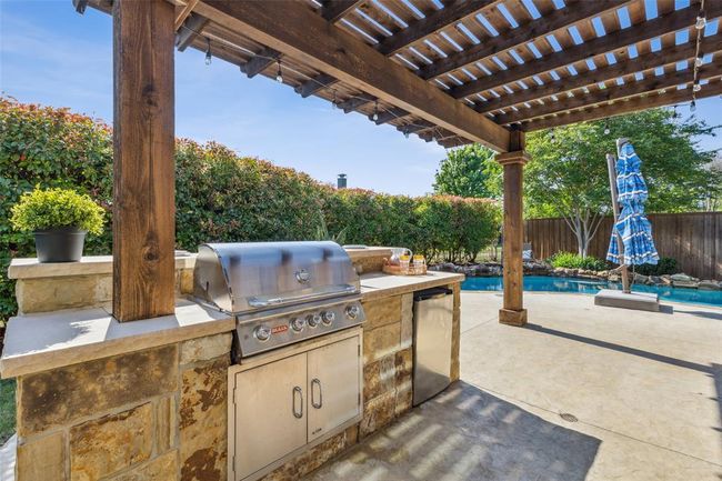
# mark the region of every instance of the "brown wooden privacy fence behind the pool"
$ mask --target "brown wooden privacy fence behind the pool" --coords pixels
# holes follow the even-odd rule
[[[701,279],[722,279],[722,212],[650,213],[652,237],[661,257],[676,259],[678,270]],[[612,218],[604,218],[589,245],[591,255],[604,259],[612,232]],[[576,252],[576,237],[564,219],[530,219],[524,242],[534,257]]]

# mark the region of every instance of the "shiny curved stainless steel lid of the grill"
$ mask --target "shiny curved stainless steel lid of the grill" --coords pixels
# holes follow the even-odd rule
[[[359,292],[351,259],[335,242],[205,243],[198,248],[193,294],[225,312]]]

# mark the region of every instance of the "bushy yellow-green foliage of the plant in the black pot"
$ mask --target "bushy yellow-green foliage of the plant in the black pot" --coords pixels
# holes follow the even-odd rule
[[[100,236],[103,210],[88,194],[71,189],[36,189],[26,192],[11,209],[10,223],[19,231],[33,232],[69,227]]]

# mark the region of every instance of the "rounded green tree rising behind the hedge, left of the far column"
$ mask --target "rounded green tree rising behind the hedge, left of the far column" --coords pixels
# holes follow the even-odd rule
[[[478,143],[449,151],[437,171],[435,193],[459,197],[499,199],[501,167],[494,152]]]

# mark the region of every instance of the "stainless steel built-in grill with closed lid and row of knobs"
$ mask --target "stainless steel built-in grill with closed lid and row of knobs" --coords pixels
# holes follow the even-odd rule
[[[239,358],[360,324],[359,277],[335,242],[207,243],[193,294],[237,321]]]

